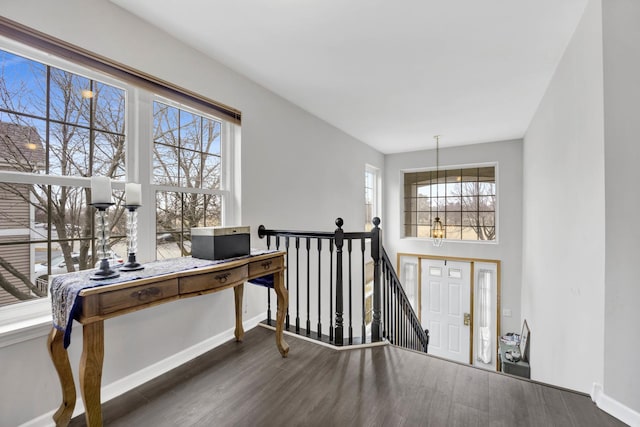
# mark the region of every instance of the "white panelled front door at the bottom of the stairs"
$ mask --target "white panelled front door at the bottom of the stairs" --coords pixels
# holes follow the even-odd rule
[[[422,259],[420,267],[421,320],[429,329],[429,354],[471,363],[471,263]]]

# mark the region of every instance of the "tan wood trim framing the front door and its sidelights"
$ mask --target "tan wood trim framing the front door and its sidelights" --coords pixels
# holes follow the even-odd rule
[[[471,263],[471,286],[470,286],[470,292],[471,292],[471,319],[473,319],[471,321],[471,325],[470,325],[470,333],[469,333],[469,340],[470,340],[470,351],[469,351],[469,364],[473,365],[473,353],[474,353],[474,320],[475,320],[475,313],[474,313],[474,306],[475,306],[475,300],[474,300],[474,289],[475,289],[475,285],[476,285],[476,278],[475,278],[475,264],[476,263],[493,263],[496,264],[496,291],[497,291],[497,304],[496,304],[496,346],[494,349],[494,355],[498,355],[498,336],[500,334],[500,299],[501,299],[501,289],[500,289],[500,282],[501,282],[501,266],[500,266],[500,260],[496,260],[496,259],[483,259],[483,258],[465,258],[465,257],[453,257],[453,256],[440,256],[440,255],[427,255],[427,254],[414,254],[414,253],[404,253],[404,252],[398,252],[397,256],[396,256],[396,265],[397,265],[397,270],[396,271],[400,271],[400,259],[401,257],[406,256],[406,257],[415,257],[418,259],[418,274],[417,274],[417,279],[418,279],[418,286],[417,286],[417,291],[418,291],[418,295],[416,297],[417,300],[417,310],[416,311],[416,315],[418,316],[418,319],[420,321],[422,321],[421,316],[422,316],[422,260],[423,259],[430,259],[430,260],[437,260],[437,261],[461,261],[461,262],[469,262]],[[499,364],[496,363],[496,369],[497,366]]]

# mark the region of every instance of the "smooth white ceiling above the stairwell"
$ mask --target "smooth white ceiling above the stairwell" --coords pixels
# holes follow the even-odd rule
[[[587,0],[111,0],[383,153],[521,138]]]

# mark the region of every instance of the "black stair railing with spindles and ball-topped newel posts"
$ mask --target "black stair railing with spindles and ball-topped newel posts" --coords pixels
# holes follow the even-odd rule
[[[392,344],[426,352],[428,335],[382,247],[380,219],[373,219],[369,232],[345,232],[342,218],[335,223],[338,228],[334,232],[268,230],[262,225],[258,228],[258,236],[267,239],[267,248],[286,251],[285,286],[290,295],[295,295],[295,326],[291,323],[294,308],[288,306],[285,329],[336,346],[387,339]],[[354,271],[358,261],[359,272]],[[312,270],[317,274],[313,283]],[[301,273],[306,280],[301,280]],[[271,324],[271,293],[267,295],[267,323]],[[314,313],[312,296],[317,303]],[[291,297],[289,301],[291,304]],[[324,312],[323,301],[329,306]],[[301,302],[305,303],[304,311]],[[317,319],[315,325],[312,315]],[[323,334],[323,319],[329,321],[328,336]],[[354,336],[354,322],[359,323],[359,337]]]

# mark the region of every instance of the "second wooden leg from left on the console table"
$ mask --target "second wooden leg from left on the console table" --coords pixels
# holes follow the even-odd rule
[[[102,426],[100,385],[104,360],[104,321],[82,327],[82,357],[80,358],[80,390],[88,427]]]

